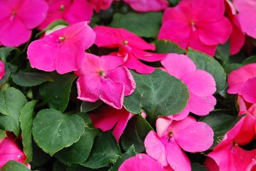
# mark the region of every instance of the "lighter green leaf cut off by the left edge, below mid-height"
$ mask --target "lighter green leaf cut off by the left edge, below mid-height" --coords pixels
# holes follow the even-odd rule
[[[27,103],[26,97],[19,90],[10,87],[0,91],[0,128],[20,134],[20,110]]]

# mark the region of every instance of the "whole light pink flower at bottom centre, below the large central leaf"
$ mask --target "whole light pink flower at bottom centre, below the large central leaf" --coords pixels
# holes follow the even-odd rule
[[[197,122],[191,116],[182,121],[172,121],[160,117],[156,121],[156,130],[150,131],[145,138],[145,148],[149,156],[164,167],[173,170],[191,170],[191,164],[182,151],[202,152],[211,147],[213,131],[205,123]]]

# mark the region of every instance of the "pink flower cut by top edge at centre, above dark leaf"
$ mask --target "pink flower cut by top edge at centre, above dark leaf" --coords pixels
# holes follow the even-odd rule
[[[169,5],[167,0],[124,0],[124,2],[139,12],[161,11]]]

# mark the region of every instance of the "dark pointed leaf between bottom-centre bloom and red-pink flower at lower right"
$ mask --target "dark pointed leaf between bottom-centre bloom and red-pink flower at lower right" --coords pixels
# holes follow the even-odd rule
[[[209,115],[205,115],[204,117],[200,118],[201,122],[209,124],[214,131],[214,142],[211,149],[221,142],[225,133],[233,128],[243,116],[244,115],[233,117],[221,112],[211,112]]]

